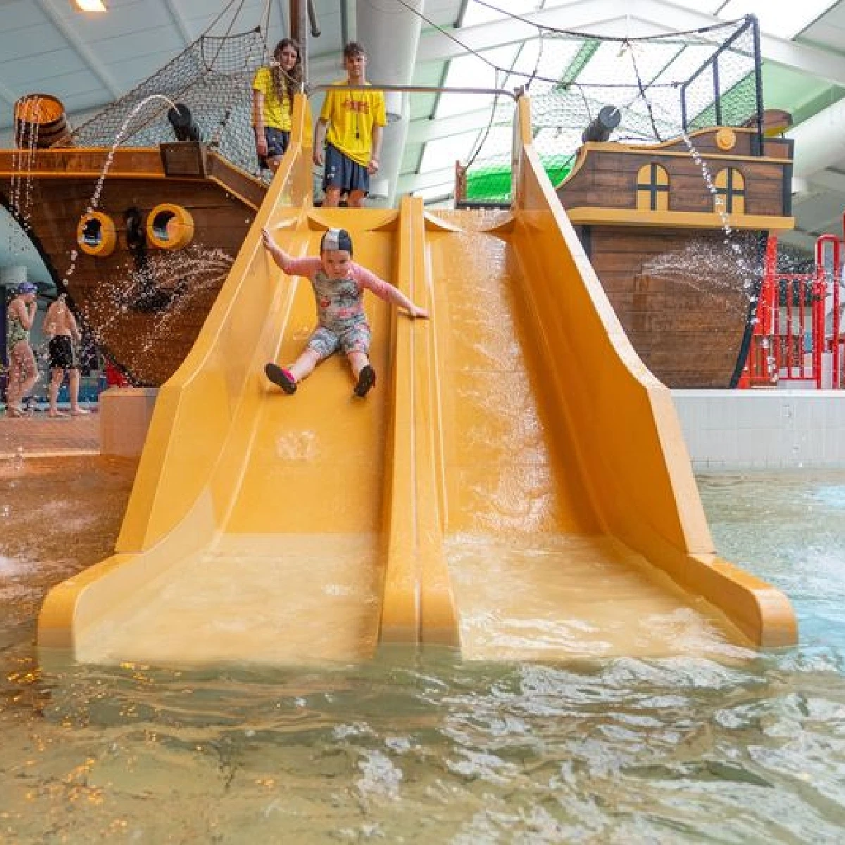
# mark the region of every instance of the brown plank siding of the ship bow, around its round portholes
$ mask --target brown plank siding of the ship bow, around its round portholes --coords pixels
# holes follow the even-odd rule
[[[162,384],[193,346],[226,275],[219,268],[196,271],[199,256],[211,250],[221,250],[230,259],[237,256],[254,209],[264,197],[264,185],[219,159],[214,178],[166,177],[158,150],[118,150],[123,155],[116,156],[96,209],[112,218],[117,246],[111,255],[96,257],[79,249],[76,232],[94,194],[93,174],[101,172],[107,150],[41,152],[46,155],[36,153],[26,168],[29,188],[14,188],[21,201],[28,199],[30,238],[58,289],[68,292],[79,318],[106,355],[137,383]],[[12,163],[21,166],[20,155],[0,152],[0,199],[7,207],[15,169],[3,167],[14,158]],[[52,167],[64,169],[57,172]],[[176,280],[183,292],[168,308],[144,311],[137,307],[139,286],[134,257],[127,248],[124,213],[137,208],[145,224],[161,203],[181,205],[191,213],[194,237],[184,250],[163,250],[148,242],[150,266],[157,268],[154,285],[166,296]],[[74,253],[75,267],[68,275]],[[188,272],[179,272],[177,265],[186,260]]]

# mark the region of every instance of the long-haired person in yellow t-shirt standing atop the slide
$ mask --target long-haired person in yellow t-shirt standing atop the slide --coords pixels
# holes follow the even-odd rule
[[[293,95],[302,79],[299,45],[291,38],[279,41],[270,68],[259,68],[253,79],[255,152],[259,164],[274,173],[291,143]]]

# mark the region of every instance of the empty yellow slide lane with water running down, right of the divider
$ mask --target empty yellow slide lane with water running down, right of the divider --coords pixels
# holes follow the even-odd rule
[[[543,402],[553,370],[577,363],[538,340],[520,234],[512,223],[479,231],[491,225],[484,212],[432,218],[444,555],[464,656],[730,651],[743,638],[722,613],[603,526],[569,425]],[[439,231],[438,223],[461,231]]]

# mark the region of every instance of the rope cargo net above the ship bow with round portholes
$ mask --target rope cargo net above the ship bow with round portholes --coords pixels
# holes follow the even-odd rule
[[[201,35],[172,62],[77,128],[74,144],[150,147],[174,141],[167,112],[174,104],[184,104],[200,140],[244,171],[256,172],[252,82],[266,57],[260,29]]]

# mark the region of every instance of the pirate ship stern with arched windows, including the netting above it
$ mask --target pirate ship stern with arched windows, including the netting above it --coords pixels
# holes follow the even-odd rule
[[[791,119],[764,109],[756,19],[542,36],[538,67],[572,58],[557,81],[528,79],[534,144],[626,334],[669,387],[735,386],[766,238],[794,225]],[[509,164],[483,145],[474,159],[458,203],[507,204]]]

